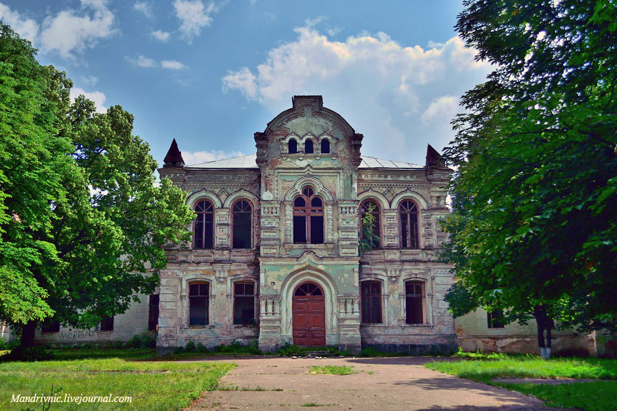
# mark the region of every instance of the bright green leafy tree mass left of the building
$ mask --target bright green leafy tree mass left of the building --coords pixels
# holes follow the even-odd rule
[[[45,319],[92,327],[152,292],[193,214],[169,179],[155,185],[132,114],[71,103],[71,80],[1,29],[0,319],[29,347]]]

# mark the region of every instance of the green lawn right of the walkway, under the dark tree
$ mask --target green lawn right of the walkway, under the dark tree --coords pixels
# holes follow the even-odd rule
[[[457,377],[535,395],[548,406],[579,408],[588,411],[617,411],[617,360],[598,358],[551,358],[472,355],[461,360],[435,361],[429,369]],[[494,382],[497,377],[597,379],[575,384],[508,384]]]

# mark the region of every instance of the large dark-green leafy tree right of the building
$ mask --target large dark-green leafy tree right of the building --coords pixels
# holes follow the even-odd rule
[[[607,0],[465,1],[458,17],[494,71],[445,153],[465,199],[455,275],[481,304],[533,314],[541,348],[554,320],[617,320],[616,21]]]

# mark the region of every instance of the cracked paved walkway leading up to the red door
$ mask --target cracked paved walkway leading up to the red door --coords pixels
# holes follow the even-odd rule
[[[429,358],[255,358],[238,364],[223,386],[205,393],[191,411],[204,410],[548,410],[520,393],[432,371]],[[352,375],[313,375],[314,365],[347,365]],[[305,404],[302,406],[302,404]],[[316,404],[319,408],[309,408]],[[313,405],[315,406],[315,405]],[[555,408],[550,410],[555,411]]]

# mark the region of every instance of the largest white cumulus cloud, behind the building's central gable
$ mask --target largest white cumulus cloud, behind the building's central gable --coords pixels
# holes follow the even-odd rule
[[[474,61],[473,49],[458,37],[426,48],[385,33],[332,41],[315,29],[317,20],[254,69],[228,71],[223,91],[237,90],[273,114],[289,108],[292,95],[324,95],[324,105],[365,134],[367,155],[423,162],[426,142],[437,149],[450,142],[450,119],[439,113],[456,112],[456,99],[444,98],[462,95],[490,70]]]

